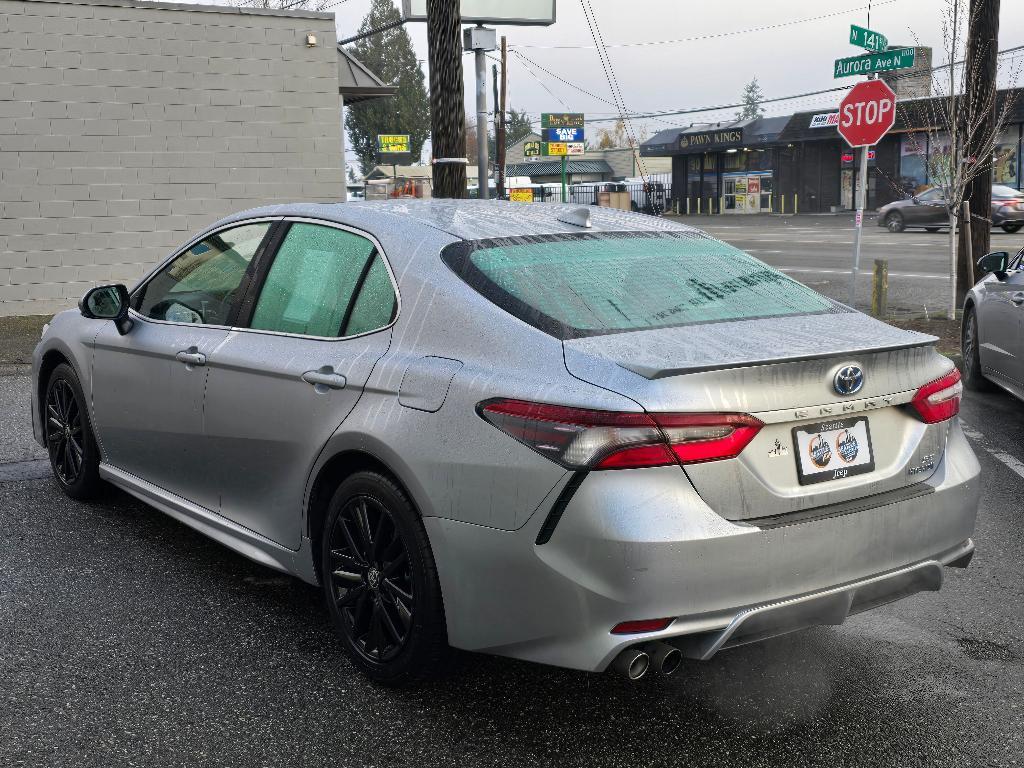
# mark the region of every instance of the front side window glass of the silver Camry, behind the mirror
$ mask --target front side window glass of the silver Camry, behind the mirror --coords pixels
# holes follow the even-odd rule
[[[177,256],[136,294],[137,312],[172,323],[223,326],[270,222],[225,229]]]

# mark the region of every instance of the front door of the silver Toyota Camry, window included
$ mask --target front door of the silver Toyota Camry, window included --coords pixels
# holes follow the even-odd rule
[[[200,451],[205,362],[227,339],[271,224],[233,225],[190,244],[134,291],[131,330],[106,324],[95,340],[103,461],[208,508],[216,497]]]

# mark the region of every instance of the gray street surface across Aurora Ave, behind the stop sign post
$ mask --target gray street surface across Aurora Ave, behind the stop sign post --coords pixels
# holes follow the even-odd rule
[[[836,216],[682,216],[716,238],[746,251],[827,296],[847,300],[853,262],[853,217]],[[992,250],[1013,253],[1024,247],[1024,230],[992,230]],[[979,254],[980,256],[980,254]],[[949,301],[949,241],[946,231],[908,229],[894,233],[864,220],[857,281],[857,306],[871,300],[874,259],[889,261],[889,305],[895,313],[944,312]]]

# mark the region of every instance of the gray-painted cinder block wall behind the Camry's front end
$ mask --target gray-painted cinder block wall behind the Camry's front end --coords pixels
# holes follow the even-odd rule
[[[130,287],[227,213],[344,200],[334,41],[326,13],[0,0],[0,315]]]

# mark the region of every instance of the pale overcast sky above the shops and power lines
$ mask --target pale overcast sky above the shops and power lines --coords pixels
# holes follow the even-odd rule
[[[397,0],[396,0],[397,1]],[[509,0],[513,2],[514,0]],[[847,42],[850,24],[866,26],[867,0],[590,0],[617,78],[626,108],[636,112],[687,110],[739,100],[743,86],[758,78],[766,97],[848,85],[833,79],[833,61],[858,51]],[[968,0],[962,0],[967,5]],[[344,0],[337,14],[339,37],[355,34],[371,0]],[[942,15],[945,0],[874,0],[870,28],[892,45],[935,48],[934,62],[946,60]],[[531,115],[572,110],[588,118],[615,114],[612,104],[559,82],[537,65],[580,88],[613,101],[580,0],[558,0],[551,27],[504,27],[509,54],[509,103]],[[764,29],[774,26],[773,29]],[[408,24],[417,55],[427,58],[425,24]],[[696,39],[694,39],[696,38]],[[611,47],[627,43],[665,44]],[[1024,2],[1004,0],[999,48],[1024,45]],[[559,47],[579,46],[579,47]],[[1024,51],[1016,65],[1024,62]],[[1007,63],[1012,63],[1009,59]],[[426,61],[424,60],[424,71]],[[489,65],[489,62],[488,62]],[[464,56],[466,108],[472,112],[472,59]],[[488,76],[490,68],[487,68]],[[488,100],[490,94],[488,83]],[[842,93],[766,104],[768,115],[838,105]],[[493,104],[488,104],[493,109]],[[735,110],[642,121],[651,133],[672,125],[730,119]],[[598,126],[588,126],[589,135]]]

